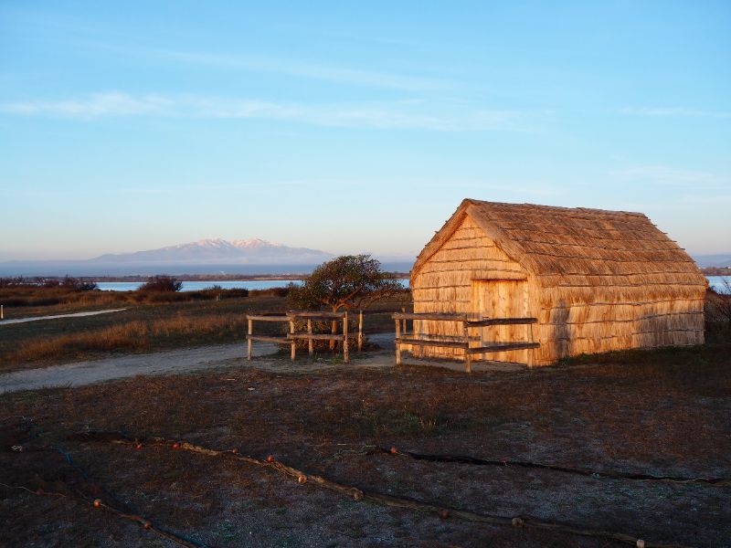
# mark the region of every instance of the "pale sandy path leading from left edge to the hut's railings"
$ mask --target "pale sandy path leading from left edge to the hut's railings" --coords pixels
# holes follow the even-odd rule
[[[87,313],[88,314],[88,313]],[[395,364],[393,333],[377,333],[369,335],[370,342],[377,344],[380,350],[351,354],[348,367],[390,367]],[[334,367],[343,367],[341,360],[331,354],[323,354],[310,360],[304,356],[291,362],[288,358],[277,354],[280,350],[276,344],[256,343],[254,356],[258,359],[251,363],[246,361],[244,342],[235,344],[218,344],[215,346],[199,346],[166,352],[125,354],[103,360],[74,362],[54,365],[38,369],[25,369],[8,374],[0,374],[0,394],[19,390],[37,390],[56,386],[93,385],[112,379],[121,379],[136,375],[181,374],[214,367],[232,367],[245,365],[258,369],[276,372],[312,372]],[[409,364],[438,365],[448,369],[461,371],[459,363],[432,363],[424,360],[407,360]],[[479,371],[514,371],[522,369],[514,364],[472,364],[472,370]]]

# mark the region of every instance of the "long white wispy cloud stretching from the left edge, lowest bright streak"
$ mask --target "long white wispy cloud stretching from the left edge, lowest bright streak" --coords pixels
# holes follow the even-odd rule
[[[76,100],[0,103],[0,112],[87,121],[104,117],[158,116],[261,119],[330,127],[435,132],[528,130],[526,116],[520,111],[470,109],[463,105],[429,105],[420,101],[311,105],[200,96],[133,96],[115,91]]]

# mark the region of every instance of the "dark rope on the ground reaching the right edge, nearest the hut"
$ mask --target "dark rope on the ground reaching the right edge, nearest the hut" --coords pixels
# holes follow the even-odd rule
[[[566,472],[567,474],[591,476],[592,478],[634,479],[638,481],[664,481],[671,483],[694,483],[699,485],[712,485],[715,487],[731,486],[731,479],[726,478],[683,478],[681,476],[653,476],[652,474],[633,474],[616,470],[595,470],[587,468],[559,466],[555,464],[540,464],[524,460],[508,460],[507,458],[503,458],[501,460],[490,460],[485,458],[465,457],[461,455],[429,455],[417,453],[414,451],[403,451],[397,448],[377,448],[377,450],[383,453],[387,453],[389,455],[400,455],[404,457],[414,458],[416,460],[429,460],[431,462],[457,462],[460,464],[473,464],[477,466],[514,466],[526,469],[545,469],[555,470],[558,472]]]

